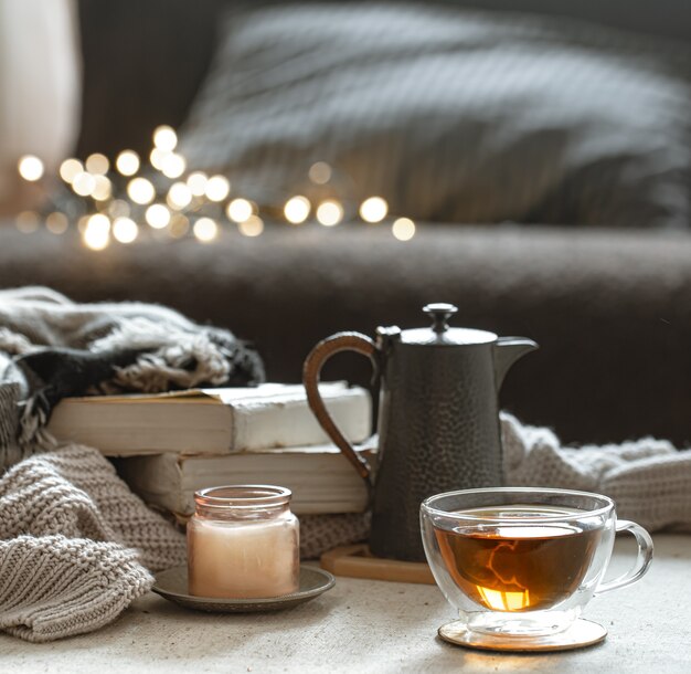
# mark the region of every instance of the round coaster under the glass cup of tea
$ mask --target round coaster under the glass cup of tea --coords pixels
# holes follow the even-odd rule
[[[507,636],[468,630],[460,620],[439,628],[439,636],[449,643],[481,651],[549,652],[572,651],[599,643],[607,636],[603,625],[578,618],[567,630],[543,636]]]

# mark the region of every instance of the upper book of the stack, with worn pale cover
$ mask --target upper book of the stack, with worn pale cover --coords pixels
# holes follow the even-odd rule
[[[344,435],[364,441],[372,424],[369,392],[341,381],[322,383],[319,390]],[[307,404],[305,388],[281,383],[66,398],[53,411],[47,430],[107,456],[227,454],[329,442]]]

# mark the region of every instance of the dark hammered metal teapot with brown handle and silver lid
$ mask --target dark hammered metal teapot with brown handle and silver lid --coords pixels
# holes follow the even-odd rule
[[[538,348],[525,337],[453,328],[451,304],[428,304],[432,327],[380,327],[376,340],[338,333],[320,341],[302,370],[309,406],[372,496],[370,549],[422,561],[419,504],[439,492],[503,483],[498,391],[508,369]],[[381,377],[376,472],[346,440],[319,396],[323,364],[339,351],[368,356]],[[376,474],[375,474],[376,473]]]

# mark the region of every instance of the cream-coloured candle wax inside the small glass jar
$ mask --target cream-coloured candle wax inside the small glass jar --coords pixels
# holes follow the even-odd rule
[[[191,524],[190,594],[251,599],[298,589],[297,526],[280,519]]]

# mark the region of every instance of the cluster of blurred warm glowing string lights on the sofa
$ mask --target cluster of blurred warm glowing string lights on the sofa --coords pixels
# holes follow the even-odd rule
[[[347,212],[355,212],[362,222],[373,225],[390,222],[392,235],[398,241],[415,236],[415,223],[408,218],[391,217],[383,197],[368,197],[359,206],[339,199],[336,173],[326,161],[310,166],[304,193],[287,196],[283,206],[279,201],[259,207],[242,194],[231,193],[227,177],[190,171],[177,148],[176,130],[159,126],[148,155],[150,167],[131,149],[120,151],[113,160],[100,152],[83,161],[67,158],[59,167],[63,192],[57,200],[51,197],[46,204],[50,208],[41,213],[20,213],[17,227],[25,233],[44,227],[53,234],[63,234],[76,223],[84,245],[102,251],[113,242],[131,244],[145,234],[150,238],[151,230],[160,232],[156,234],[159,239],[192,235],[211,243],[228,229],[228,223],[234,223],[241,235],[255,238],[265,231],[267,218],[293,225],[317,222],[332,228],[343,221]],[[17,169],[28,182],[41,185],[45,178],[43,161],[34,155],[22,156]]]

